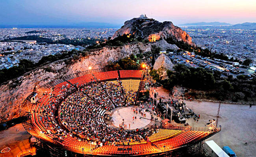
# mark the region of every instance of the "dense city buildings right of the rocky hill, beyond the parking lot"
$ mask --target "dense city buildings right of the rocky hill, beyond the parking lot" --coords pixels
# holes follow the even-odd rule
[[[201,29],[199,27],[183,28],[192,37],[198,47],[223,53],[229,58],[252,59],[256,66],[256,30],[254,29]]]

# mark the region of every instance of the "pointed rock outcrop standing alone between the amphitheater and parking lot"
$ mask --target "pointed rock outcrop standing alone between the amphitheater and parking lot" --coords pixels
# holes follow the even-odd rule
[[[157,70],[161,80],[168,79],[167,69],[173,70],[173,62],[164,54],[161,54],[154,64],[153,69]]]

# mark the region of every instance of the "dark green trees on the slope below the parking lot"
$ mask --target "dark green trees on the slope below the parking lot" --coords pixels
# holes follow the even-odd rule
[[[154,69],[150,75],[167,89],[177,85],[191,89],[187,95],[193,98],[255,102],[256,78],[234,79],[232,75],[223,78],[217,71],[182,64],[175,65],[173,71],[167,70],[168,79],[160,80]]]

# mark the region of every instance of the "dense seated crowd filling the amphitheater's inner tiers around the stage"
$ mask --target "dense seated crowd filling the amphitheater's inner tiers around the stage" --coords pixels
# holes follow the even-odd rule
[[[78,86],[59,106],[59,119],[79,140],[94,141],[97,146],[141,141],[152,134],[150,129],[126,130],[106,126],[99,112],[127,106],[121,82],[93,82]]]

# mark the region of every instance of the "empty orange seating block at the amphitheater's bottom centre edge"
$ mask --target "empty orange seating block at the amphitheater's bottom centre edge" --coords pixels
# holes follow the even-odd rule
[[[117,151],[117,148],[132,148],[132,151]],[[157,153],[159,150],[155,146],[151,146],[150,144],[137,144],[132,146],[102,146],[93,151],[96,154],[123,154],[128,153],[129,155],[135,154],[148,154],[148,153]]]

